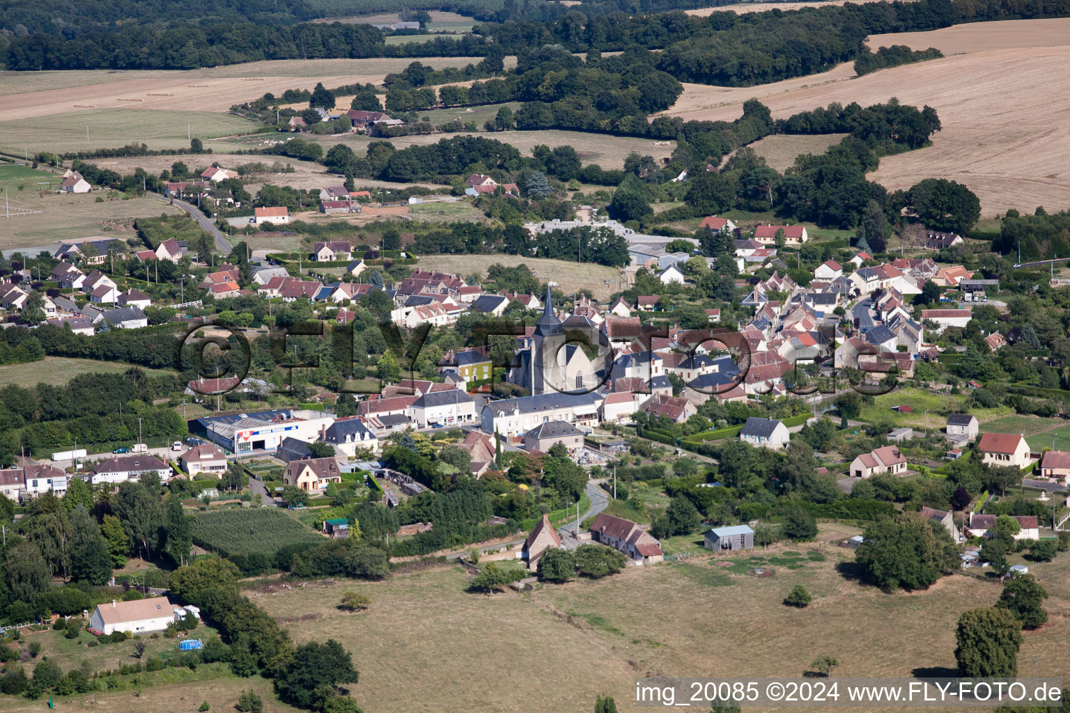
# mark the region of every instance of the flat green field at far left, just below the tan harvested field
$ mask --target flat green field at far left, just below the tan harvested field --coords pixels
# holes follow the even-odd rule
[[[150,149],[188,149],[187,124],[193,136],[201,139],[242,134],[257,126],[245,119],[211,111],[87,109],[0,122],[0,149],[17,154],[27,149],[33,154],[128,143],[146,143]]]

